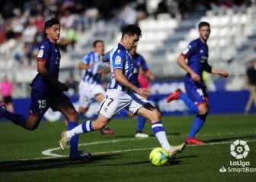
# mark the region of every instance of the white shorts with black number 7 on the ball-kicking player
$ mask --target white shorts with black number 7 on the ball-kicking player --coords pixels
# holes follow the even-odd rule
[[[107,89],[105,99],[101,102],[99,113],[106,118],[112,118],[117,112],[126,108],[135,114],[146,103],[148,103],[147,99],[136,93],[128,94],[117,89]]]

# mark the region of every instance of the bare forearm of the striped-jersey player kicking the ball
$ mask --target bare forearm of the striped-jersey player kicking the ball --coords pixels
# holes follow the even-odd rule
[[[130,83],[130,81],[123,75],[122,69],[114,69],[114,78],[115,80],[117,80],[118,83],[128,87],[129,89],[132,89],[135,93],[139,94],[139,96],[146,98],[150,95],[149,90],[140,89],[137,86],[133,85],[133,83]]]

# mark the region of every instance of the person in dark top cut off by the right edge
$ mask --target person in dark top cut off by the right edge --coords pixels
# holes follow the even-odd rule
[[[255,103],[255,106],[256,106],[256,60],[251,61],[249,63],[248,69],[246,71],[246,75],[247,75],[247,85],[250,91],[250,97],[245,107],[245,115],[247,115],[248,112],[250,111],[251,105],[253,104],[253,102]]]

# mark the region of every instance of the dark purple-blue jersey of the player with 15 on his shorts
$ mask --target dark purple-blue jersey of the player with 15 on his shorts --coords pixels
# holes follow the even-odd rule
[[[56,44],[50,42],[49,39],[44,39],[39,46],[37,61],[45,61],[46,69],[49,71],[50,76],[58,80],[60,52]],[[53,90],[55,88],[55,86],[53,86],[53,84],[48,80],[44,79],[43,75],[40,73],[38,73],[34,78],[31,86],[32,89],[37,89],[44,92]]]

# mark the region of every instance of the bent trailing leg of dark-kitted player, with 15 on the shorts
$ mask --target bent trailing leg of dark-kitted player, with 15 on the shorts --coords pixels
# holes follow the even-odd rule
[[[40,119],[45,111],[49,108],[46,96],[40,91],[31,90],[31,103],[29,115],[19,115],[8,111],[5,107],[0,108],[0,117],[24,127],[27,130],[35,130],[40,123]]]

